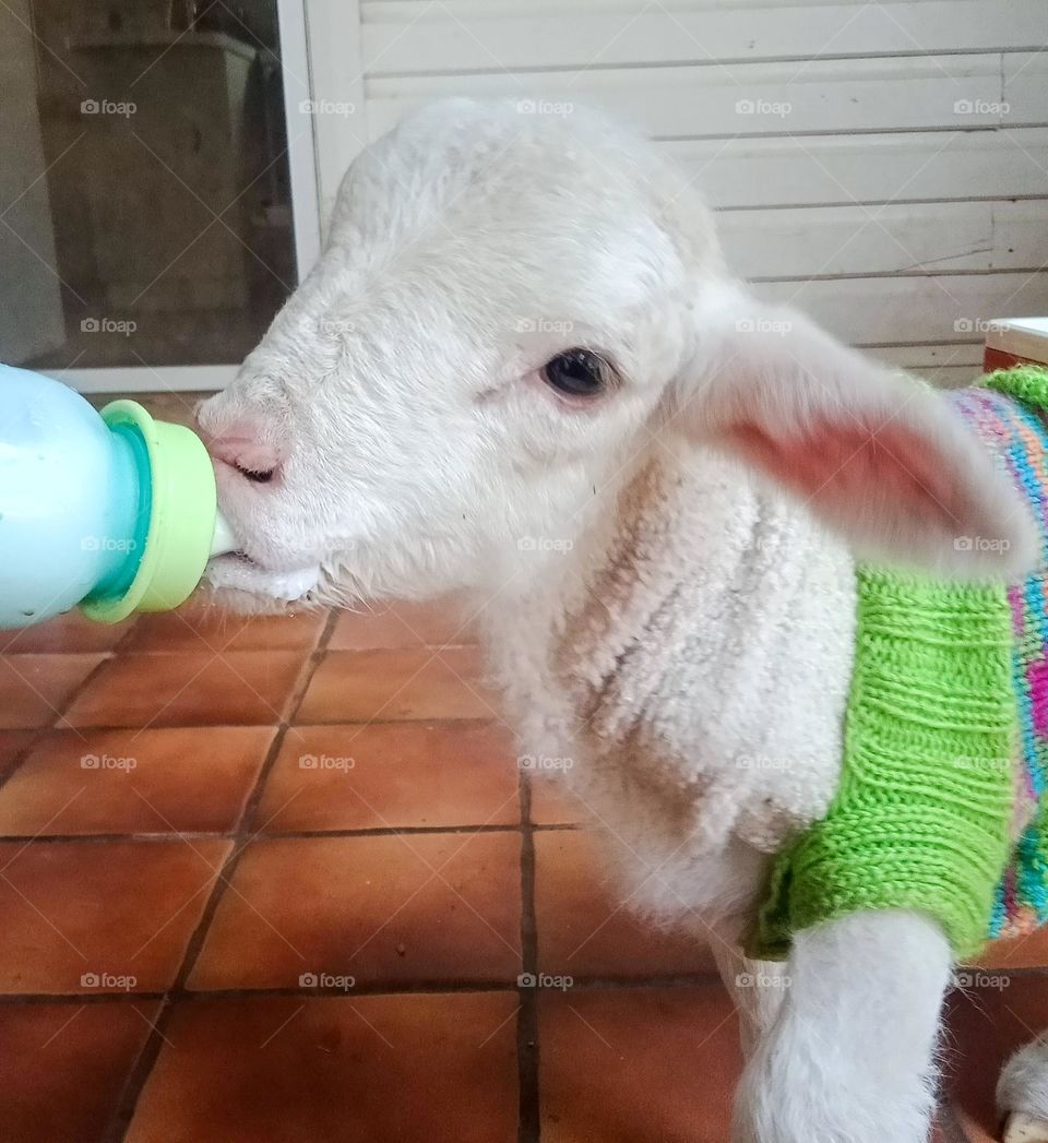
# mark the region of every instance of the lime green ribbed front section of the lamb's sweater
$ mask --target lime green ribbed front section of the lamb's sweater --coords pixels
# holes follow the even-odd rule
[[[779,959],[817,921],[915,909],[967,957],[985,943],[1011,845],[1005,589],[863,568],[858,622],[837,798],[779,855],[750,951]]]

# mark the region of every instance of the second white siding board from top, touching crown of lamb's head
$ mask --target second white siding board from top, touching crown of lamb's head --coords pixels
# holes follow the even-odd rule
[[[639,67],[483,75],[369,79],[368,130],[389,130],[426,99],[449,95],[533,97],[570,109],[589,103],[631,120],[656,138],[803,135],[811,133],[971,129],[1005,122],[1000,54],[894,59],[816,59],[739,64],[730,69]],[[1048,123],[1048,62],[1007,57],[1013,75],[1009,126]],[[1021,70],[1015,61],[1025,59]],[[959,114],[958,104],[973,110]],[[752,111],[750,109],[753,109]]]

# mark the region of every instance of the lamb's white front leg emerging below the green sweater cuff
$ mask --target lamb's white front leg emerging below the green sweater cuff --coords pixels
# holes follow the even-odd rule
[[[749,1061],[734,1143],[926,1143],[951,975],[920,913],[864,912],[797,935],[775,1023]]]

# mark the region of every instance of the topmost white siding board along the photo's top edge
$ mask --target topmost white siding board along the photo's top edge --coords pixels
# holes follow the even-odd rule
[[[369,75],[637,67],[840,56],[1037,50],[1048,40],[1043,0],[864,5],[778,5],[672,11],[633,5],[619,11],[565,3],[509,11],[442,2],[363,6]]]

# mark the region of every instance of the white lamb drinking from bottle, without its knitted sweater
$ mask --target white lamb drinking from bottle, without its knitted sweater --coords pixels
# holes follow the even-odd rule
[[[835,918],[785,968],[741,943],[838,785],[856,559],[1035,565],[936,394],[752,297],[646,141],[455,99],[353,163],[199,421],[243,547],[210,567],[226,599],[475,600],[522,749],[573,759],[623,900],[711,942],[737,996],[734,1143],[927,1140],[936,920]],[[1048,1141],[1048,1042],[999,1090],[1009,1140]]]

